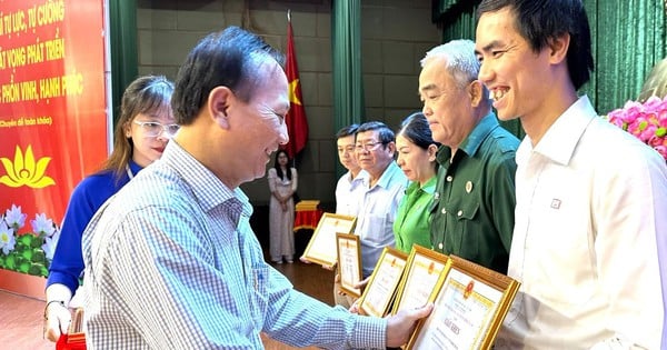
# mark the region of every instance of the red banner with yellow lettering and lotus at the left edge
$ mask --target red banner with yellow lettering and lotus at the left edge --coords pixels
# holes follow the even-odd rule
[[[44,276],[72,189],[108,154],[103,1],[0,8],[0,268]]]

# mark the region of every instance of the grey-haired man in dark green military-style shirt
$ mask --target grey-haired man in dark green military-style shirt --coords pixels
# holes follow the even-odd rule
[[[491,111],[472,41],[438,46],[420,63],[424,113],[442,144],[430,208],[432,249],[507,273],[519,140]]]

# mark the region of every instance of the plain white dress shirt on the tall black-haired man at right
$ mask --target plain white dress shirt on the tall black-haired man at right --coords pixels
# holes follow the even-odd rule
[[[657,152],[580,98],[517,151],[508,274],[521,287],[496,349],[659,349],[656,234],[667,234]]]

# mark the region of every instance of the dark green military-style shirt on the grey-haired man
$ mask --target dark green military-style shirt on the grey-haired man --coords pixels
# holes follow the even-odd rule
[[[519,140],[490,113],[460,144],[438,150],[430,207],[432,249],[507,273],[514,230],[515,152]]]

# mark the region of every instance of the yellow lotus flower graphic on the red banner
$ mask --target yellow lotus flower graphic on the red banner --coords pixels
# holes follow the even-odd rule
[[[40,158],[36,163],[34,156],[32,154],[32,146],[30,144],[26,149],[24,157],[21,148],[17,146],[13,162],[9,158],[0,158],[0,161],[2,161],[2,166],[4,166],[4,171],[7,172],[6,176],[0,177],[0,183],[2,184],[13,188],[27,186],[36,189],[56,184],[53,179],[44,176],[51,157]]]

